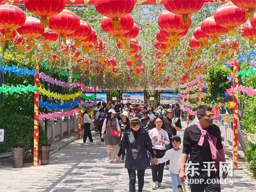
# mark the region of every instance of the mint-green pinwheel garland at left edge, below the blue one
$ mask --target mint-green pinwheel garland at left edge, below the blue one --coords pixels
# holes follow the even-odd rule
[[[38,89],[36,85],[17,85],[16,87],[14,85],[7,86],[6,84],[3,84],[2,87],[0,87],[0,92],[4,92],[5,94],[12,95],[13,93],[28,93],[28,92],[35,92]]]

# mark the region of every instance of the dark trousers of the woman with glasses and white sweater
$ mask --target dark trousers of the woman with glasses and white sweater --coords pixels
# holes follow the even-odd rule
[[[165,150],[156,150],[153,149],[154,155],[156,158],[162,158],[163,155],[165,155]],[[163,180],[163,169],[165,167],[165,163],[159,163],[158,165],[155,165],[153,162],[151,162],[151,171],[152,171],[152,179],[153,182],[162,183]]]

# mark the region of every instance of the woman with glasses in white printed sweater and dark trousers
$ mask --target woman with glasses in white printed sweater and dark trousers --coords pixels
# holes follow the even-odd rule
[[[165,145],[170,143],[168,134],[165,130],[161,128],[163,125],[163,120],[160,117],[155,118],[154,124],[156,128],[151,129],[149,131],[149,136],[152,141],[153,151],[156,158],[161,158],[165,154]],[[165,164],[153,164],[151,163],[151,170],[152,170],[152,189],[163,188],[162,180],[163,180],[163,168]]]

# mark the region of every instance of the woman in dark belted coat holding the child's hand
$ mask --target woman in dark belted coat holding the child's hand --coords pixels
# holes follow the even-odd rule
[[[149,166],[147,151],[152,155],[152,162],[156,161],[152,150],[152,142],[145,129],[141,128],[141,120],[133,117],[130,120],[130,129],[124,133],[119,144],[120,150],[117,157],[117,163],[120,161],[122,151],[127,150],[125,159],[125,168],[129,174],[129,192],[135,192],[136,170],[138,175],[138,192],[142,192],[144,185],[145,169]]]

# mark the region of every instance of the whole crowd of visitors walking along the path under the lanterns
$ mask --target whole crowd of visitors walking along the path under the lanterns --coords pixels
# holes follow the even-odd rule
[[[129,175],[129,191],[135,192],[136,171],[138,178],[138,191],[143,190],[144,174],[148,167],[152,170],[152,189],[161,189],[163,170],[166,168],[171,173],[173,191],[182,191],[182,183],[185,180],[185,163],[199,163],[198,178],[207,179],[204,163],[215,161],[214,153],[221,161],[225,161],[219,127],[213,125],[213,112],[210,106],[201,105],[197,111],[199,123],[187,127],[184,131],[183,143],[177,131],[182,129],[180,116],[183,115],[178,103],[169,105],[163,109],[159,105],[156,110],[147,108],[143,102],[141,105],[132,106],[121,102],[98,103],[90,117],[91,108],[87,108],[83,114],[85,145],[94,144],[91,136],[90,124],[96,120],[96,127],[101,138],[101,145],[106,145],[107,161],[119,163],[125,159],[125,168]],[[215,142],[214,147],[208,140],[199,141],[203,136],[211,138]],[[90,142],[86,142],[89,137]],[[204,138],[203,138],[204,139]],[[183,150],[180,145],[183,144]],[[120,146],[117,153],[117,145]],[[211,146],[211,148],[210,148]],[[215,151],[212,151],[215,150]],[[115,159],[117,153],[117,158]],[[218,159],[217,158],[217,159]],[[188,176],[189,177],[189,176]],[[211,172],[209,178],[218,179],[217,172]],[[226,175],[223,175],[225,178]],[[193,177],[190,177],[193,178]],[[219,192],[219,184],[190,184],[191,192],[204,190],[206,192]]]

